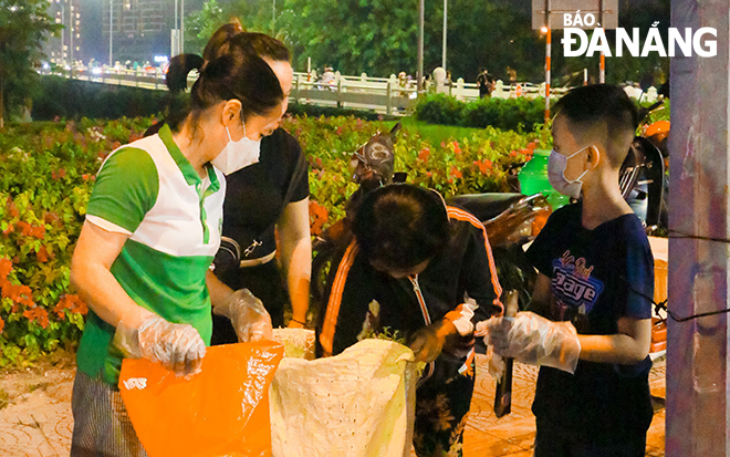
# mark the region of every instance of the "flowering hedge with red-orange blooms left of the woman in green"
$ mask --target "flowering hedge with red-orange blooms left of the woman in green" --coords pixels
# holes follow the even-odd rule
[[[0,136],[0,366],[73,345],[73,248],[106,155],[152,120],[10,125]]]

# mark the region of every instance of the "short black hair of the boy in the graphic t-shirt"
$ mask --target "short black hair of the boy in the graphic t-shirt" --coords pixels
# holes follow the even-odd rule
[[[605,124],[609,141],[633,138],[639,121],[636,104],[626,92],[608,84],[575,87],[557,101],[554,111],[578,127]],[[628,145],[625,150],[628,152]],[[614,162],[623,160],[616,157]]]

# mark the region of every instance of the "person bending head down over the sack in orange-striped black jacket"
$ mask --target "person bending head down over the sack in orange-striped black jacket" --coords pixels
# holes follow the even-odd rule
[[[472,322],[502,311],[484,228],[436,191],[396,184],[365,197],[353,232],[333,263],[317,355],[397,332],[428,362],[416,394],[416,454],[460,455],[474,386]]]

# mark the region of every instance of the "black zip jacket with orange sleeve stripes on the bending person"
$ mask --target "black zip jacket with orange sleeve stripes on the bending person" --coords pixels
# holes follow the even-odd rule
[[[501,313],[501,288],[481,222],[455,207],[448,207],[448,247],[415,278],[396,279],[377,271],[356,242],[333,261],[326,310],[320,313],[316,329],[317,356],[341,353],[368,330],[379,333],[387,328],[408,341],[415,331],[447,314],[465,335],[459,351],[463,355],[465,341],[473,344],[469,322]]]

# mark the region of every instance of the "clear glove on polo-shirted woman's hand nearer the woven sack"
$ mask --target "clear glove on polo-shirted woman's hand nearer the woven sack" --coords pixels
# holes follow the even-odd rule
[[[213,313],[231,320],[240,342],[273,340],[271,316],[248,289],[233,292],[225,304],[213,307]]]

